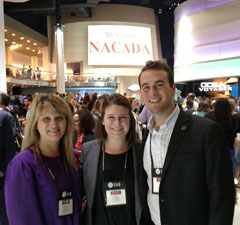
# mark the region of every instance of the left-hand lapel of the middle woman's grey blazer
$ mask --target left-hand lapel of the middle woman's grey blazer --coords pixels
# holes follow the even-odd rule
[[[94,196],[95,196],[95,191],[96,191],[96,183],[97,183],[97,173],[98,173],[98,161],[100,157],[100,152],[101,152],[101,143],[96,142],[95,145],[92,147],[91,151],[89,151],[89,166],[91,168],[88,168],[88,174],[86,175],[87,177],[87,187],[89,189],[89,193],[92,193],[88,197],[88,204],[89,204],[89,209],[92,210],[92,206],[94,203]]]

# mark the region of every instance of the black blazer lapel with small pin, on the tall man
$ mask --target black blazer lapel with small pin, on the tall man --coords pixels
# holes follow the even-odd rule
[[[181,110],[176,121],[175,127],[173,129],[170,143],[168,145],[168,151],[163,166],[162,181],[173,159],[173,156],[176,153],[177,149],[179,148],[181,141],[183,140],[189,127],[191,126],[191,123],[192,123],[191,116]]]

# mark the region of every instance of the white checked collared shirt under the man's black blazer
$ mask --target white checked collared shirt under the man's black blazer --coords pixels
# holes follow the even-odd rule
[[[148,176],[148,206],[151,214],[152,221],[156,225],[161,225],[160,220],[160,208],[159,208],[159,194],[152,193],[152,167],[151,167],[151,156],[150,156],[150,134],[152,135],[151,140],[151,152],[153,157],[153,168],[163,168],[164,161],[166,158],[168,145],[174,126],[176,124],[180,109],[176,105],[171,115],[165,120],[160,126],[159,131],[154,129],[153,117],[148,123],[149,134],[144,147],[143,155],[143,166]]]

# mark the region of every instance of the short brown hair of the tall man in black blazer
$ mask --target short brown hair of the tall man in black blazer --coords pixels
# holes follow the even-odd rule
[[[174,77],[173,77],[173,72],[172,70],[170,69],[170,67],[165,63],[165,62],[162,62],[162,61],[147,61],[146,62],[146,65],[142,68],[139,76],[138,76],[138,83],[139,83],[139,86],[141,88],[141,75],[144,71],[147,71],[147,70],[163,70],[167,73],[168,75],[168,81],[169,81],[169,85],[170,87],[173,86],[174,84]]]

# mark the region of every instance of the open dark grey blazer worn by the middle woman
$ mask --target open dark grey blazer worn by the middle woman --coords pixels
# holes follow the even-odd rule
[[[141,143],[133,147],[133,161],[135,174],[135,213],[138,225],[153,225],[150,220],[150,214],[147,207],[147,184],[146,177],[140,177],[143,174],[143,149]],[[92,209],[96,192],[96,182],[98,173],[98,162],[101,152],[101,142],[93,140],[83,145],[83,182],[86,196],[86,206],[84,209],[84,224],[92,224]],[[145,196],[144,196],[145,195]]]

